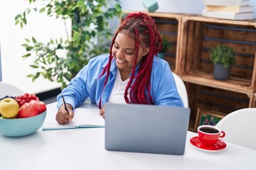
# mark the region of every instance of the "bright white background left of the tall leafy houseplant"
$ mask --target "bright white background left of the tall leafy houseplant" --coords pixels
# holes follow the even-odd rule
[[[32,82],[31,78],[26,77],[28,74],[36,72],[36,69],[28,66],[33,60],[21,58],[26,54],[26,50],[21,47],[21,44],[25,42],[24,38],[31,39],[32,35],[38,41],[48,42],[50,38],[65,38],[66,34],[63,21],[52,19],[46,14],[33,12],[28,16],[28,24],[23,29],[14,26],[15,16],[27,7],[28,1],[25,0],[0,2],[2,81],[14,84],[28,93],[40,93],[55,89],[60,85],[46,79],[37,79]]]

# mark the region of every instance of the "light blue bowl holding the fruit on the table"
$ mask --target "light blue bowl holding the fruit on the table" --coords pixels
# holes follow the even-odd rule
[[[46,111],[30,118],[0,119],[0,134],[21,137],[36,132],[46,119]]]

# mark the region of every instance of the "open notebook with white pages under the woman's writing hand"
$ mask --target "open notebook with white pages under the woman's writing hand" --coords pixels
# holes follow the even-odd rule
[[[57,103],[47,105],[46,120],[43,123],[43,130],[65,130],[77,128],[103,128],[105,120],[100,116],[100,109],[90,103],[84,103],[79,108],[75,108],[75,116],[70,123],[60,125],[55,120],[57,113]]]

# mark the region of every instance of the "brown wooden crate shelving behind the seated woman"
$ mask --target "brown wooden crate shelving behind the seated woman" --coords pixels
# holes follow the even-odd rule
[[[129,12],[127,12],[129,13]],[[241,108],[256,107],[256,21],[231,21],[195,15],[148,13],[161,36],[176,43],[165,57],[173,72],[186,84],[191,108],[189,130],[196,131],[198,111],[227,115]],[[176,26],[174,22],[176,21]],[[213,78],[210,49],[218,44],[235,48],[236,60],[227,81]]]

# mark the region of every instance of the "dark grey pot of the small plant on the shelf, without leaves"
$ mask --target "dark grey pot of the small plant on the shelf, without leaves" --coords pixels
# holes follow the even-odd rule
[[[213,77],[218,80],[227,80],[230,78],[231,67],[223,67],[222,64],[214,64]]]

